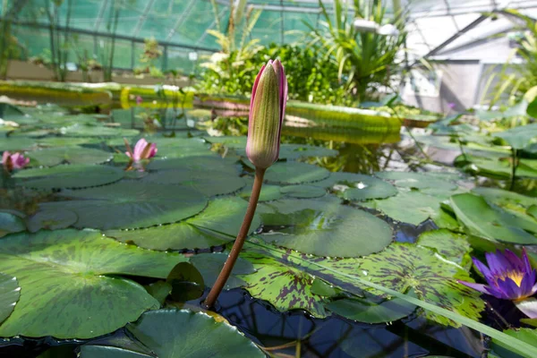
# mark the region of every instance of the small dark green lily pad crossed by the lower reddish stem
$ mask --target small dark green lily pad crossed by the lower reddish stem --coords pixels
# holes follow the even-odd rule
[[[227,253],[214,252],[214,253],[200,253],[199,255],[192,256],[190,262],[196,268],[200,270],[201,275],[207,286],[213,286],[217,281],[218,274],[224,267],[224,263],[227,259]],[[254,273],[255,269],[251,263],[243,258],[239,257],[236,260],[231,276],[226,281],[226,290],[230,290],[235,287],[246,286],[246,283],[242,278],[237,275],[248,275]]]

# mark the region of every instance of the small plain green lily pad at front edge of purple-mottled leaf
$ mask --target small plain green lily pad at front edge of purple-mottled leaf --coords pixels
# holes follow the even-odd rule
[[[364,323],[382,323],[401,320],[412,314],[416,306],[400,298],[384,300],[380,303],[373,303],[360,298],[344,298],[328,303],[327,308],[349,320]]]

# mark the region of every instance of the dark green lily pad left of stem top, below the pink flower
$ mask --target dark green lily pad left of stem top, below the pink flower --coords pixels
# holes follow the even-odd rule
[[[206,196],[230,194],[241,190],[246,182],[236,174],[213,170],[162,170],[142,179],[147,183],[180,183],[190,186]]]

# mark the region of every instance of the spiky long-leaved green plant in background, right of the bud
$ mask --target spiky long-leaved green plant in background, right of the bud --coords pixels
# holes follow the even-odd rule
[[[334,1],[333,17],[320,1],[324,21],[322,27],[310,27],[310,44],[320,44],[326,61],[335,61],[340,81],[358,101],[378,98],[381,88],[391,88],[400,75],[397,54],[406,39],[405,17],[399,16],[394,26],[396,34],[387,36],[378,32],[365,32],[354,28],[354,19],[386,21],[386,7],[379,0],[354,0],[347,4]]]

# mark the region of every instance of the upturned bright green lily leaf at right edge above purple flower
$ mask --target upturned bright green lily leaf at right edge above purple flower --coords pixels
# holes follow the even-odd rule
[[[537,243],[537,237],[525,231],[537,232],[537,222],[534,220],[526,221],[503,209],[493,209],[481,196],[470,193],[454,195],[450,202],[468,234],[507,243]]]

